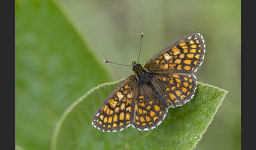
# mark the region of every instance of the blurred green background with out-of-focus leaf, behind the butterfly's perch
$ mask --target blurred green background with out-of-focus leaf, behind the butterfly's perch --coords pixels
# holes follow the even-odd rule
[[[76,99],[144,64],[176,39],[201,33],[198,81],[228,90],[195,149],[241,149],[241,1],[15,1],[15,143],[48,149],[54,127]]]

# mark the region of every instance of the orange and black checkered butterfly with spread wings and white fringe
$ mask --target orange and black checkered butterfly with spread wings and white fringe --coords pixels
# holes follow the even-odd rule
[[[141,41],[142,37],[143,34]],[[133,61],[134,74],[102,102],[92,125],[107,132],[121,131],[130,125],[144,131],[155,128],[170,107],[181,106],[193,98],[197,86],[194,72],[202,64],[204,53],[204,39],[198,33],[166,47],[144,67],[138,63],[139,58],[137,63]]]

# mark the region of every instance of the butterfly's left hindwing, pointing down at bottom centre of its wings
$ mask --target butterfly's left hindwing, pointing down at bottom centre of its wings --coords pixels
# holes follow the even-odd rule
[[[133,126],[144,131],[153,129],[164,120],[167,112],[152,88],[147,84],[140,84],[135,101]]]

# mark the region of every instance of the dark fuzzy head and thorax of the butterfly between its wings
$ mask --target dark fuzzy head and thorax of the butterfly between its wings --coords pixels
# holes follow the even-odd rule
[[[136,63],[135,61],[132,62],[133,68],[132,71],[136,74],[137,79],[144,83],[150,82],[149,72],[146,71],[144,67],[141,66],[140,63]]]

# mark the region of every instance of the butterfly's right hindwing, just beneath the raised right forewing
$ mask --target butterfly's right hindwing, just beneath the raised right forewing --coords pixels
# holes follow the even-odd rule
[[[151,81],[172,108],[190,101],[197,86],[196,78],[191,74],[159,73],[152,76]]]

